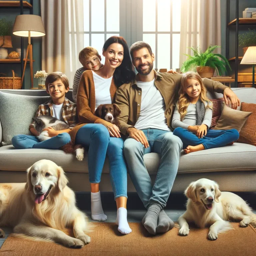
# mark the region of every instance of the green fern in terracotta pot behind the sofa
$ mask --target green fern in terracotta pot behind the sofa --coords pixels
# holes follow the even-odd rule
[[[189,58],[183,62],[181,67],[182,72],[197,71],[202,78],[211,78],[213,77],[215,69],[220,76],[225,75],[225,72],[227,72],[226,65],[231,70],[228,60],[223,55],[213,53],[213,51],[216,48],[220,48],[220,46],[210,45],[205,52],[202,52],[200,47],[197,47],[197,49],[193,47],[189,48],[194,52],[194,56],[186,54]],[[223,59],[224,62],[221,59]]]

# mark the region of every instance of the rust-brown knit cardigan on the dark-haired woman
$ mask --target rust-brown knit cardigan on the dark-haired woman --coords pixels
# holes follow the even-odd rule
[[[117,87],[112,78],[110,85],[110,96],[113,102]],[[95,112],[95,86],[91,70],[83,72],[77,90],[77,115],[79,123],[69,132],[71,140],[75,142],[76,133],[85,124],[95,123],[100,119],[94,115]]]

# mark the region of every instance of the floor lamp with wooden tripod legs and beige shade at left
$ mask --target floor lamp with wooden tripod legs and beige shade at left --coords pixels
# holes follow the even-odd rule
[[[21,78],[21,84],[23,83],[26,64],[28,60],[28,53],[29,53],[29,60],[30,60],[30,76],[31,76],[31,88],[33,88],[33,54],[32,54],[32,44],[31,44],[31,37],[38,37],[44,36],[44,25],[42,18],[38,15],[33,14],[23,14],[16,16],[13,25],[13,34],[16,36],[24,36],[28,37],[28,47],[27,47],[27,54],[25,58],[24,69]],[[21,49],[23,50],[23,49]],[[20,60],[23,61],[23,60]]]

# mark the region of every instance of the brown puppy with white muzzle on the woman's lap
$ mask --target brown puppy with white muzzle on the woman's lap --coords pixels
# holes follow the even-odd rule
[[[102,104],[95,110],[95,116],[98,116],[116,126],[120,127],[118,116],[121,114],[121,109],[117,104]]]

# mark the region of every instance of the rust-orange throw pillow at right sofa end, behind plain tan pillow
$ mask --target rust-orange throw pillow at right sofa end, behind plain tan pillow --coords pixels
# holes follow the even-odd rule
[[[252,114],[242,127],[237,142],[256,146],[256,104],[242,102],[241,110]]]

